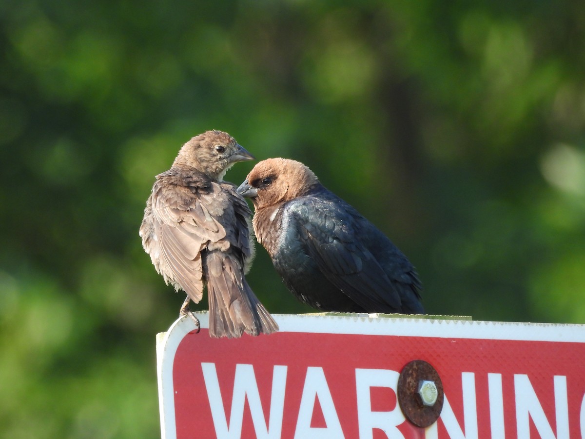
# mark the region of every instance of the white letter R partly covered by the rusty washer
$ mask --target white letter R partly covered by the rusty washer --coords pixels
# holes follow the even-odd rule
[[[371,410],[371,387],[390,387],[396,393],[400,373],[386,369],[356,369],[357,423],[360,439],[374,437],[373,429],[380,428],[387,437],[404,438],[397,426],[404,422],[398,403],[391,411]]]

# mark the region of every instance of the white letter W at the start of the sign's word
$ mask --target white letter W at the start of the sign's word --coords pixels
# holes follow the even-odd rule
[[[269,426],[266,427],[264,411],[260,402],[260,394],[251,364],[236,365],[233,379],[232,409],[228,420],[223,409],[223,399],[219,391],[219,381],[215,363],[201,363],[205,389],[214,420],[215,433],[221,438],[239,438],[242,435],[244,403],[246,397],[252,414],[252,423],[256,437],[264,439],[280,438],[283,427],[284,392],[287,380],[287,366],[274,366],[272,375],[272,393],[270,398]]]

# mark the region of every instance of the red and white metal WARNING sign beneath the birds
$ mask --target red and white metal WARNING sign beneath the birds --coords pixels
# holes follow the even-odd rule
[[[585,325],[277,314],[276,334],[214,339],[197,316],[157,345],[166,438],[585,437]],[[427,428],[397,404],[412,360],[444,389]]]

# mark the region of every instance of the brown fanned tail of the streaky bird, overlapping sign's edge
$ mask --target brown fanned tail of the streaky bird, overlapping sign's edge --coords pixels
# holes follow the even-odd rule
[[[243,266],[227,252],[212,251],[205,256],[209,296],[209,335],[241,337],[271,334],[278,325],[246,282]]]

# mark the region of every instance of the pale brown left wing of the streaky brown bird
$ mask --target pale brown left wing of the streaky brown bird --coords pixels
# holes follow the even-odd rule
[[[221,188],[211,183],[199,193],[158,183],[152,193],[152,217],[160,243],[160,271],[197,303],[203,294],[201,251],[226,236],[221,224]]]

